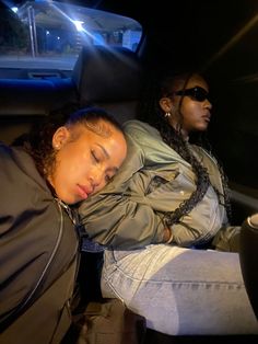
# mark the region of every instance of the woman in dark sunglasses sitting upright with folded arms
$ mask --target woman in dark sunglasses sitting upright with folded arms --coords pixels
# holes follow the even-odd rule
[[[210,122],[208,84],[183,73],[163,79],[154,98],[148,94],[140,118],[149,123],[125,125],[128,156],[120,171],[79,209],[89,237],[106,245],[102,294],[166,334],[258,333],[238,254],[196,249],[215,238],[220,250],[234,250],[238,232],[227,223],[218,162],[190,144],[191,133]]]

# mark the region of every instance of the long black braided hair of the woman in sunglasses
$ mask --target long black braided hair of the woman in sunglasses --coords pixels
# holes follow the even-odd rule
[[[180,221],[180,218],[187,214],[189,214],[194,207],[203,198],[210,183],[208,170],[202,167],[202,164],[198,161],[198,159],[190,151],[188,142],[184,139],[181,135],[181,122],[183,116],[180,113],[180,105],[183,102],[183,96],[178,106],[178,128],[174,128],[167,124],[167,119],[164,116],[164,112],[160,106],[160,99],[164,96],[168,96],[175,90],[175,85],[178,81],[184,81],[183,90],[186,88],[188,80],[191,78],[192,72],[184,72],[172,76],[165,76],[165,78],[160,83],[154,77],[154,80],[148,82],[148,87],[144,90],[142,102],[139,104],[138,111],[138,119],[148,122],[150,125],[154,126],[161,134],[164,142],[166,142],[169,147],[172,147],[184,160],[189,162],[192,168],[194,173],[196,174],[196,190],[191,193],[188,199],[185,199],[180,203],[178,208],[173,211],[166,213],[164,216],[164,221],[167,226],[172,226],[176,222]],[[199,135],[199,145],[201,142],[200,139],[201,134]],[[202,146],[202,145],[200,145]],[[222,176],[222,183],[224,187],[224,204],[227,211],[227,217],[231,216],[231,206],[230,206],[230,197],[226,187],[226,180],[223,173],[223,170],[220,168],[220,173]],[[216,193],[219,191],[215,190]],[[221,199],[218,195],[219,199]]]

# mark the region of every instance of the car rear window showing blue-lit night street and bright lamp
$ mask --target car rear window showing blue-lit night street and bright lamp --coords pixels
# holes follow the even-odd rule
[[[72,70],[84,45],[136,50],[141,25],[130,18],[56,1],[1,8],[0,68]]]

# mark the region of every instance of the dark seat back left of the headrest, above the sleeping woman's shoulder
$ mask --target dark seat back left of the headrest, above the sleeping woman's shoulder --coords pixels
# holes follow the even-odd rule
[[[0,140],[11,144],[51,111],[77,103],[71,78],[0,79]]]

